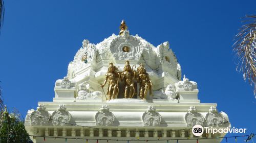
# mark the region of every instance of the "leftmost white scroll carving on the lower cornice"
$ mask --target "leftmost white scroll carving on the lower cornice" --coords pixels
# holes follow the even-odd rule
[[[46,111],[46,107],[44,104],[40,104],[37,107],[37,110],[31,112],[30,120],[32,126],[42,126],[49,125],[48,121],[50,118],[50,114]]]

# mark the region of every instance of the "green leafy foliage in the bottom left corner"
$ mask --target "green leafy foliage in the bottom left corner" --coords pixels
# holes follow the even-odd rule
[[[23,121],[17,113],[11,113],[5,108],[0,114],[0,142],[31,142]]]

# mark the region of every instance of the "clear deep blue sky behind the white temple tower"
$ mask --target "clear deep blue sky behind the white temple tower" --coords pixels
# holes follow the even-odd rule
[[[0,35],[4,102],[24,116],[38,101],[52,101],[54,83],[67,74],[83,39],[98,43],[130,34],[157,46],[169,41],[182,74],[199,87],[201,103],[217,103],[232,126],[255,132],[252,87],[237,73],[232,53],[240,18],[256,1],[13,1],[5,0]],[[230,134],[231,135],[231,134]],[[236,134],[240,135],[240,134]]]

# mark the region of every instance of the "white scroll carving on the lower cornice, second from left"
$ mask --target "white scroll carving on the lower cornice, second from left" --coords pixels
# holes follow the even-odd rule
[[[71,120],[71,114],[66,109],[65,105],[59,105],[58,111],[52,113],[51,119],[54,126],[68,125]]]

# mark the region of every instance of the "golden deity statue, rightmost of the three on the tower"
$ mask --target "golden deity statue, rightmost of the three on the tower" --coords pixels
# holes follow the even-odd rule
[[[150,80],[150,77],[146,73],[146,69],[143,64],[140,64],[140,66],[137,68],[138,77],[137,81],[140,85],[140,99],[146,100],[147,90],[150,90],[150,94],[152,94],[151,89],[153,86],[153,83]]]

